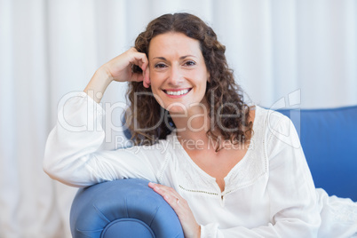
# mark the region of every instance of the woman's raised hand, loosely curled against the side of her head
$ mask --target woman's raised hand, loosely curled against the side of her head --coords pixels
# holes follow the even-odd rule
[[[139,66],[142,69],[142,73],[132,72],[133,65]],[[123,54],[111,59],[102,66],[102,69],[106,70],[111,81],[143,81],[144,86],[146,88],[149,87],[147,55],[138,52],[135,48],[131,48],[127,52],[123,52]]]

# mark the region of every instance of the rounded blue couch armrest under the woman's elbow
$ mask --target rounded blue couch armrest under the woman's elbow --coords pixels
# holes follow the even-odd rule
[[[70,214],[73,237],[184,237],[171,206],[147,186],[131,178],[80,189]]]

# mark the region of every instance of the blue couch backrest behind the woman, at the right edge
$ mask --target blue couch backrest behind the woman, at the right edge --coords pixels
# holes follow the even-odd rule
[[[279,111],[297,128],[315,186],[357,201],[357,106]]]

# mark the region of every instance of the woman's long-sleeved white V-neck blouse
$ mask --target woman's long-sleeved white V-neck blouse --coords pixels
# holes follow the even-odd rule
[[[188,202],[201,237],[357,236],[357,202],[315,189],[298,134],[284,115],[256,107],[250,148],[221,192],[175,133],[150,147],[103,150],[104,114],[84,92],[59,107],[44,171],[69,186],[120,178],[171,186]]]

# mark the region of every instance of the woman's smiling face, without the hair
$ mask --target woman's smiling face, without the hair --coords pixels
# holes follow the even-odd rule
[[[199,41],[182,33],[155,36],[148,51],[151,89],[171,114],[205,107],[210,74]]]

